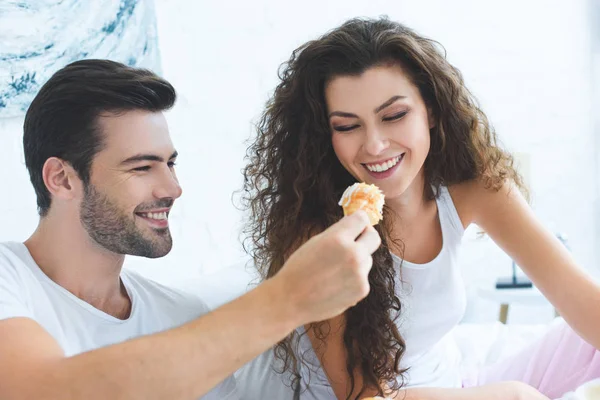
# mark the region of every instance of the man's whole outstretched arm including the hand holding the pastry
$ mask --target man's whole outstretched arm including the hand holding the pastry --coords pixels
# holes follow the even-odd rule
[[[369,291],[379,236],[360,212],[315,236],[277,276],[179,328],[64,357],[27,318],[0,322],[0,398],[192,399],[297,326],[330,318]]]

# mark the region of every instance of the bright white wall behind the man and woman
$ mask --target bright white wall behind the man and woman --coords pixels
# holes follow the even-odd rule
[[[245,145],[276,71],[304,41],[353,16],[387,14],[440,41],[502,141],[531,156],[533,205],[568,234],[580,263],[596,268],[596,182],[591,118],[590,22],[585,0],[192,2],[156,0],[164,75],[179,91],[168,115],[184,195],[175,207],[173,252],[128,265],[165,282],[212,272],[241,257]],[[0,240],[36,224],[21,154],[21,120],[0,121]],[[491,283],[510,263],[488,239],[465,239],[465,275]]]

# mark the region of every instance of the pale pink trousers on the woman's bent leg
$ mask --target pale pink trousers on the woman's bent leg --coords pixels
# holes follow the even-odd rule
[[[539,341],[513,357],[483,368],[466,378],[463,385],[516,380],[556,399],[596,378],[600,378],[600,352],[561,321]]]

